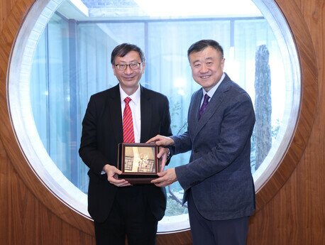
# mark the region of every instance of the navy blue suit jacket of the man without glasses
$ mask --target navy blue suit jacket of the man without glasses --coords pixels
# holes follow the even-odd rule
[[[226,75],[210,99],[202,118],[198,111],[202,89],[194,92],[187,132],[172,136],[175,152],[192,150],[189,163],[175,169],[197,209],[209,220],[250,216],[255,190],[250,172],[250,136],[255,124],[248,94]]]

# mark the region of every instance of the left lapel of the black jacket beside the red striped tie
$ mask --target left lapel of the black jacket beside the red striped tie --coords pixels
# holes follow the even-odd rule
[[[115,129],[114,137],[118,143],[121,143],[123,142],[123,124],[119,85],[116,85],[109,94],[108,107],[111,115],[111,126]]]

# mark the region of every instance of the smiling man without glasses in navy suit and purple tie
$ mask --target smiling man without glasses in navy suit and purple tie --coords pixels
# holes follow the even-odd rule
[[[182,135],[155,136],[158,157],[192,151],[189,163],[158,173],[158,187],[179,181],[185,190],[193,244],[246,244],[255,209],[250,172],[250,136],[255,124],[246,91],[224,73],[224,51],[215,40],[199,40],[187,51],[194,80],[188,128]],[[170,151],[170,152],[169,152]]]

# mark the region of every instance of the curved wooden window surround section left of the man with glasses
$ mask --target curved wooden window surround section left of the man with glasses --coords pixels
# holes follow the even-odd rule
[[[48,1],[43,1],[42,5],[39,7],[44,8],[47,3]],[[33,4],[34,1],[31,0],[16,1],[6,26],[2,30],[0,43],[5,43],[6,45],[1,45],[0,48],[1,59],[3,58],[1,62],[1,74],[7,74],[10,65],[9,57],[11,48],[13,48],[14,42],[16,41],[15,38],[19,28],[21,28],[23,19],[26,17],[26,14]],[[33,192],[33,195],[48,207],[51,212],[55,213],[57,217],[60,217],[60,219],[80,229],[82,232],[93,234],[92,220],[79,214],[75,209],[68,207],[65,202],[59,200],[57,195],[55,195],[55,193],[43,183],[43,180],[38,177],[38,173],[35,173],[33,168],[31,168],[31,165],[28,163],[23,153],[23,148],[21,148],[19,141],[16,139],[15,129],[13,129],[11,124],[11,114],[7,106],[9,102],[7,91],[8,85],[6,84],[6,79],[2,76],[0,86],[0,103],[2,107],[1,111],[3,111],[0,118],[1,141],[18,175],[20,175],[21,179],[26,184],[26,187]]]

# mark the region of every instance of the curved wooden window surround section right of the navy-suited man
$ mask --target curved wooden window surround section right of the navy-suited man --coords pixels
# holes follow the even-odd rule
[[[275,172],[256,194],[257,212],[280,190],[297,167],[307,146],[316,117],[317,69],[312,39],[302,13],[292,1],[276,1],[290,26],[300,62],[302,93],[296,128],[287,152]],[[290,122],[289,122],[290,123]],[[295,122],[292,121],[292,124]]]

